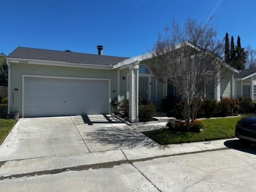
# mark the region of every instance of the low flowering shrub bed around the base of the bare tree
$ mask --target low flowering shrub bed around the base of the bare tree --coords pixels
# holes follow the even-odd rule
[[[201,120],[194,120],[189,124],[182,121],[168,122],[166,126],[173,132],[200,132],[205,125]]]

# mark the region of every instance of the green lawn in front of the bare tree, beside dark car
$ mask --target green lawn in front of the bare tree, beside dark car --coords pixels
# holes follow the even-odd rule
[[[236,122],[242,117],[250,115],[254,114],[241,114],[241,117],[234,118],[203,120],[206,126],[200,133],[170,132],[168,129],[146,131],[143,133],[161,145],[234,138]]]

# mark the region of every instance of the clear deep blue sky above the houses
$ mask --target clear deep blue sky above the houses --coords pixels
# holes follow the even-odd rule
[[[152,49],[173,17],[213,24],[256,48],[255,0],[2,0],[0,51],[17,46],[132,57]]]

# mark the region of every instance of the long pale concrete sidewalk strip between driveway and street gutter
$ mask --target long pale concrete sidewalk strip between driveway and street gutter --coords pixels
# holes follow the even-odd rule
[[[235,148],[238,145],[239,142],[237,139],[228,139],[4,161],[0,162],[0,179],[50,174],[52,172],[64,172],[66,170],[106,165],[114,166],[127,164],[130,163],[130,161],[140,162],[154,158]]]

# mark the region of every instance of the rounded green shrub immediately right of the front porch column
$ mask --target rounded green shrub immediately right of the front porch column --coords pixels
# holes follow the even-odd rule
[[[141,122],[151,121],[155,113],[156,107],[152,103],[139,106],[139,119]]]

